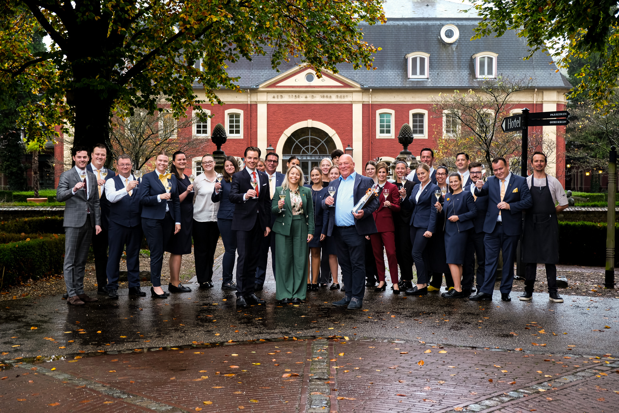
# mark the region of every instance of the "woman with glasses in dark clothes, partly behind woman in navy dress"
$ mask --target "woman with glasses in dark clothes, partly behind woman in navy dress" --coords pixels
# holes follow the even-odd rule
[[[439,207],[444,202],[443,192],[447,191],[447,175],[449,171],[445,165],[439,165],[436,167],[436,185],[441,189],[441,196],[438,199],[435,197],[436,211],[439,211]],[[449,272],[449,266],[447,265],[445,254],[445,214],[438,212],[436,215],[436,230],[435,233],[428,241],[428,276],[430,277],[430,285],[428,285],[428,291],[440,291],[443,284],[443,274],[445,275],[445,283],[447,290],[454,287],[453,280],[451,279],[451,272]]]

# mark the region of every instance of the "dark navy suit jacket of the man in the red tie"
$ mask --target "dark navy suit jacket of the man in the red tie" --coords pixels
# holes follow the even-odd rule
[[[258,198],[249,198],[245,200],[245,194],[249,189],[254,189],[251,186],[251,176],[246,168],[232,175],[232,183],[230,184],[230,194],[228,199],[233,204],[236,204],[232,214],[232,230],[249,231],[256,224],[256,219],[259,219],[260,228],[264,231],[267,227],[271,228],[271,192],[269,191],[269,176],[266,173],[258,172],[258,180],[260,188],[258,189]]]

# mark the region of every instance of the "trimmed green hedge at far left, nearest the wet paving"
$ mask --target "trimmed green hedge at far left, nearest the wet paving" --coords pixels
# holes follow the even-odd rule
[[[19,234],[10,234],[17,235]],[[10,237],[10,235],[3,235]],[[28,278],[52,276],[63,272],[64,235],[45,234],[43,239],[0,245],[0,287],[16,285]]]

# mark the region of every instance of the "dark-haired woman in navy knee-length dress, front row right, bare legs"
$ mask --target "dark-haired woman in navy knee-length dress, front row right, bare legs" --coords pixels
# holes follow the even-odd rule
[[[445,222],[445,249],[447,263],[454,280],[454,288],[443,294],[444,298],[464,298],[462,293],[462,264],[473,230],[473,219],[477,216],[475,199],[470,191],[462,191],[462,176],[457,172],[449,174],[449,192],[446,195],[443,208],[447,220]]]

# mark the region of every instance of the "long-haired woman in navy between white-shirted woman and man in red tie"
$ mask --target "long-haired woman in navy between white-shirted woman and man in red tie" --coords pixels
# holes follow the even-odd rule
[[[223,258],[222,258],[222,290],[236,291],[236,284],[232,281],[232,270],[236,258],[236,231],[232,229],[232,216],[234,215],[235,204],[230,202],[230,185],[232,175],[239,171],[238,162],[233,156],[227,156],[223,162],[223,175],[218,176],[215,182],[215,190],[210,196],[212,202],[219,202],[217,211],[217,228],[222,235]]]

